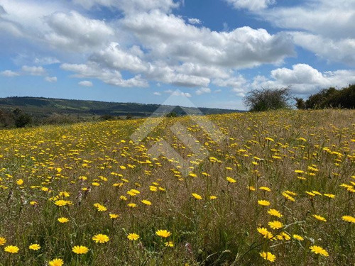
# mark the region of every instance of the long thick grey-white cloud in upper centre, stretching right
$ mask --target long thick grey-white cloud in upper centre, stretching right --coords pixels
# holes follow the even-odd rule
[[[159,11],[127,16],[123,23],[150,50],[151,57],[170,62],[238,69],[280,63],[294,55],[290,35],[271,35],[264,29],[242,27],[228,33],[215,32]]]

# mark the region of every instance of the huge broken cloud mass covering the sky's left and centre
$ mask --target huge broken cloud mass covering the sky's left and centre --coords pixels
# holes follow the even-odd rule
[[[75,77],[100,79],[119,87],[147,87],[147,80],[180,87],[208,87],[214,79],[233,77],[230,69],[278,64],[294,55],[291,35],[250,27],[229,32],[197,27],[199,19],[185,21],[170,13],[180,1],[74,0],[74,5],[55,2],[50,6],[48,2],[40,5],[28,0],[28,9],[24,0],[4,3],[6,12],[11,13],[9,21],[18,26],[19,33],[34,43],[42,43],[45,49],[65,51],[66,59],[67,52],[71,52],[69,57],[75,55],[72,61],[81,62],[62,64],[63,70],[74,72]],[[68,10],[77,5],[124,12],[119,18],[104,21],[89,18],[91,11],[84,15]],[[57,56],[35,56],[33,61],[33,57],[21,65],[66,61]],[[122,72],[133,77],[124,79]]]

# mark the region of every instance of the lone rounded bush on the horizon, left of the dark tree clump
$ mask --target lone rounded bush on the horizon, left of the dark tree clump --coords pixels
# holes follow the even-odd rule
[[[244,97],[250,111],[267,111],[290,108],[290,88],[254,89]]]

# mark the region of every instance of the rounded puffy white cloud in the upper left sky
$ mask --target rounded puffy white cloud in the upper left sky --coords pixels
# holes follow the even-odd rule
[[[52,31],[45,34],[45,40],[61,50],[91,51],[114,35],[114,30],[104,21],[86,18],[76,11],[53,13],[46,22]]]

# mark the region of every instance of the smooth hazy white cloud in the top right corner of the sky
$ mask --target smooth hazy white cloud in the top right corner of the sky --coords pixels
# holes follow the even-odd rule
[[[279,28],[293,30],[297,45],[332,62],[355,65],[355,1],[315,0],[258,13]]]

